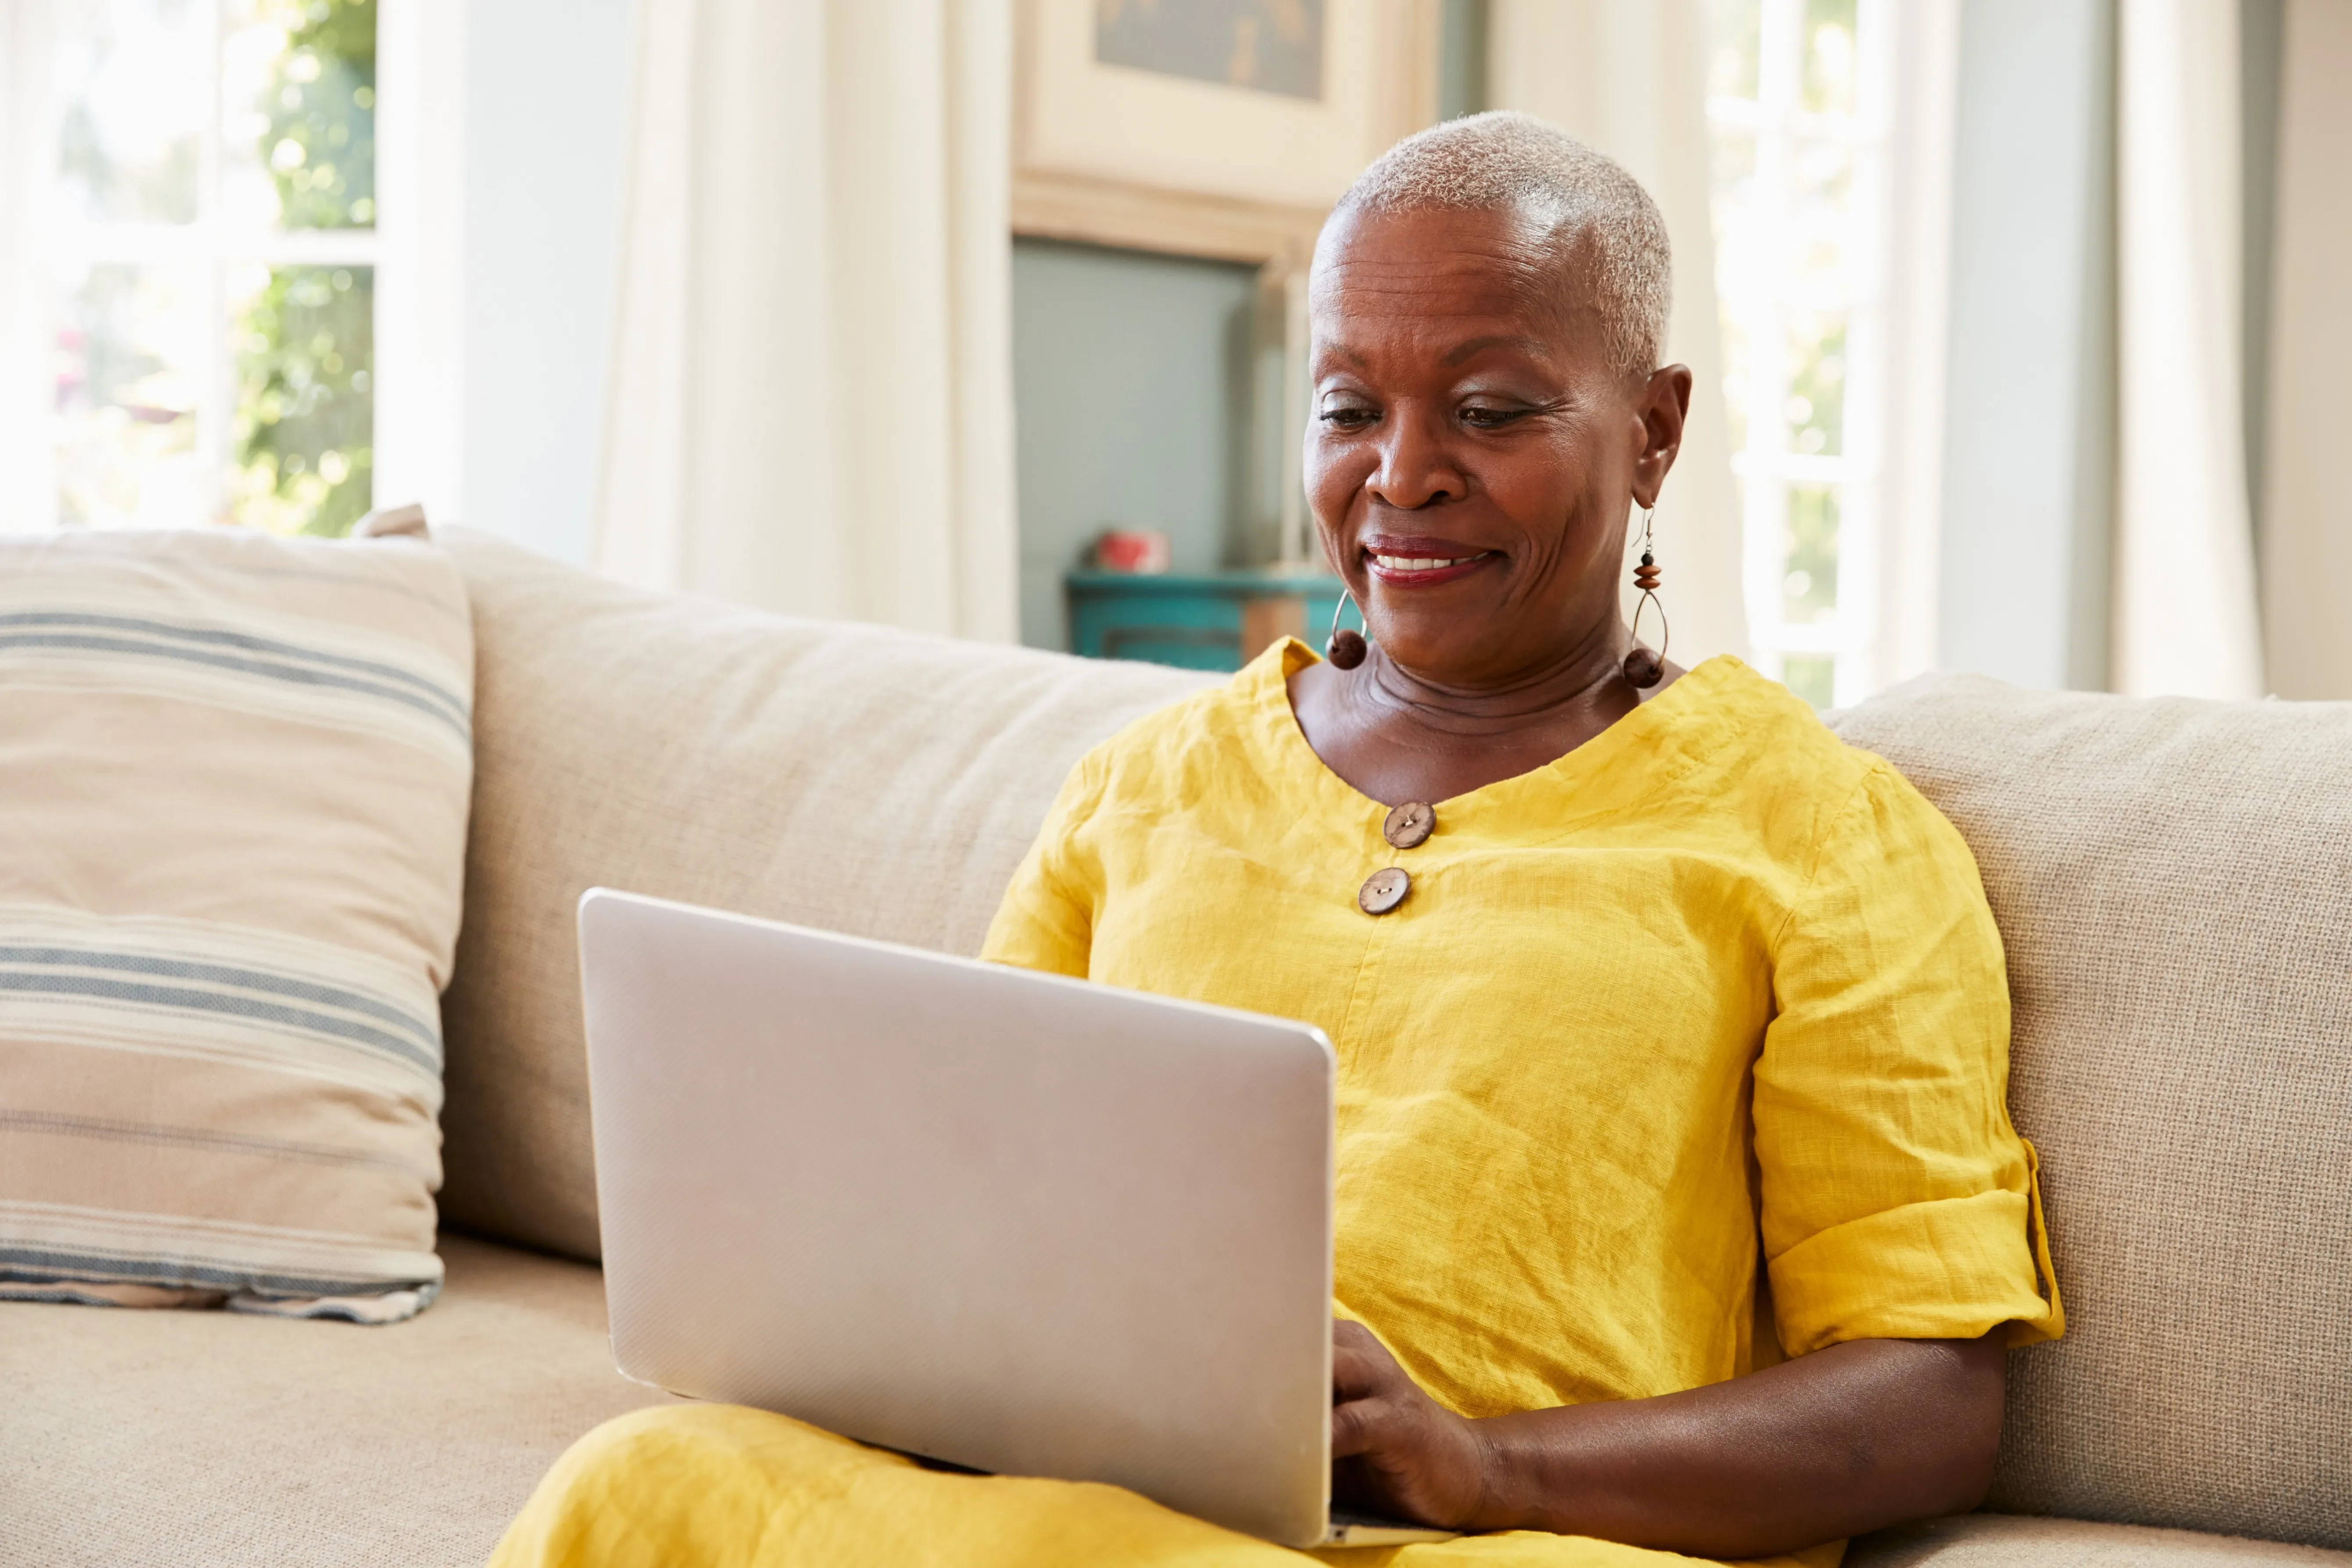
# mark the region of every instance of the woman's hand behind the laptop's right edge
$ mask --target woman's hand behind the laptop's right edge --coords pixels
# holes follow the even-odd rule
[[[1331,1490],[1343,1502],[1463,1530],[1486,1462],[1477,1427],[1423,1394],[1369,1328],[1331,1326]]]

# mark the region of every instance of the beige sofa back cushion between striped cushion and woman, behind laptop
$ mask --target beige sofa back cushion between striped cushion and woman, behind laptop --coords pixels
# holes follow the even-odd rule
[[[1202,675],[788,621],[447,531],[475,609],[475,799],[445,1213],[597,1255],[590,886],[978,952],[1070,764]]]

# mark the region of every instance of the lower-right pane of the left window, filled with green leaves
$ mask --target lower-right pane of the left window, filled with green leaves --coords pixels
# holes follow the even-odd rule
[[[233,515],[348,534],[374,494],[374,268],[259,268],[245,284]]]

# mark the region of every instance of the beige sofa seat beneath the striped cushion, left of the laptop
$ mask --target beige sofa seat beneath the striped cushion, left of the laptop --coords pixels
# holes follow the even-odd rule
[[[442,1234],[440,1305],[358,1328],[0,1305],[0,1563],[459,1568],[623,1380],[593,1267]]]

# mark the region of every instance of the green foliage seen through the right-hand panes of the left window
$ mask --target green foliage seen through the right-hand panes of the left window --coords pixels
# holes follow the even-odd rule
[[[282,226],[376,221],[376,0],[285,0],[261,158]],[[238,515],[348,534],[374,498],[374,268],[270,268],[238,324]]]

